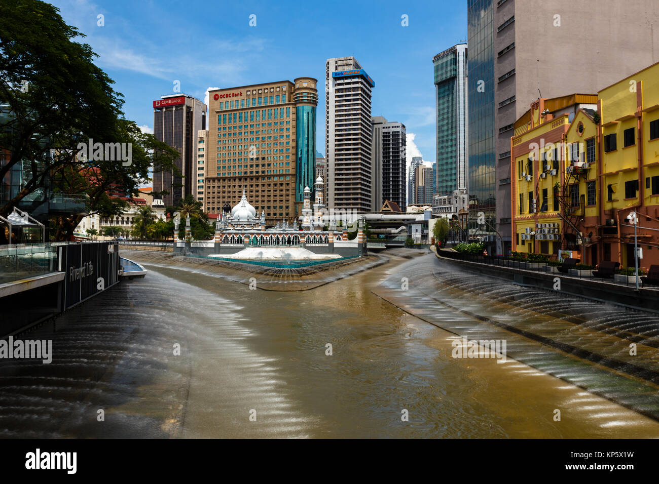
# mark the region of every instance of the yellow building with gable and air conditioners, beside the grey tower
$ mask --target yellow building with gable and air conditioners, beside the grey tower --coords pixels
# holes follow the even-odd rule
[[[588,205],[593,186],[588,177],[597,152],[596,102],[592,94],[541,98],[515,122],[513,251],[558,255],[561,249],[581,248],[587,240],[585,219],[596,216]]]

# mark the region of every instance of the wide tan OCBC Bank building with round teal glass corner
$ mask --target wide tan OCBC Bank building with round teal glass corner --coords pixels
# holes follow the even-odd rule
[[[208,211],[236,205],[244,189],[266,225],[301,216],[315,181],[316,84],[301,77],[209,92]]]

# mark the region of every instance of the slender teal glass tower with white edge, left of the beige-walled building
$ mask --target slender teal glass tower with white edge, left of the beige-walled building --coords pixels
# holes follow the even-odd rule
[[[436,192],[467,188],[467,44],[432,59],[436,104]]]

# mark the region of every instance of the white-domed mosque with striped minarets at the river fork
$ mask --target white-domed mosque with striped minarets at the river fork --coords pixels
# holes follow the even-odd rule
[[[259,259],[286,261],[339,259],[366,254],[363,223],[358,221],[357,237],[348,240],[347,223],[337,230],[337,222],[324,220],[324,183],[318,176],[314,184],[315,202],[311,205],[311,190],[304,188],[300,224],[282,220],[266,229],[266,214],[260,214],[243,197],[233,208],[226,203],[215,222],[215,240],[210,242],[178,241],[176,252],[229,259]],[[326,229],[327,230],[323,230]]]

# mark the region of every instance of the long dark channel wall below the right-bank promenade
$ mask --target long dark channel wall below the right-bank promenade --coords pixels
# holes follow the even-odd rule
[[[500,265],[489,265],[478,262],[463,261],[442,257],[436,254],[441,261],[453,264],[465,271],[498,277],[506,281],[513,281],[523,286],[534,286],[555,292],[564,292],[573,296],[610,302],[627,308],[643,309],[659,313],[659,290],[640,288],[633,286],[621,286],[608,282],[590,281],[573,277],[563,277],[557,273],[538,273],[515,269],[514,267],[503,267]],[[556,279],[560,281],[560,289],[554,289]]]

